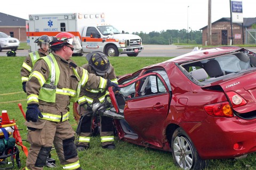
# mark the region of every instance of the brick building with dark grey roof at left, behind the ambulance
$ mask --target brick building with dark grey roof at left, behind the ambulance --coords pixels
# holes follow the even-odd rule
[[[26,20],[0,12],[0,32],[26,42]]]

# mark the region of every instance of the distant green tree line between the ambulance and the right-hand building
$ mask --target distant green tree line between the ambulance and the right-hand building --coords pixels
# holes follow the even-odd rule
[[[146,34],[141,31],[140,33],[136,32],[132,34],[139,35],[143,44],[202,44],[202,31],[198,30],[167,29],[166,31],[160,31],[160,33],[152,31]]]

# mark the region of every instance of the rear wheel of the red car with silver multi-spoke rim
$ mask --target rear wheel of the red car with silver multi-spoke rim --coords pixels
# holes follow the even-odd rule
[[[171,141],[174,164],[183,169],[205,169],[207,161],[200,158],[198,152],[185,131],[177,128]]]

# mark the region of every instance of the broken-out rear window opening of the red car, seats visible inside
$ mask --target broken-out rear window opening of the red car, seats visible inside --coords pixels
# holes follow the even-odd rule
[[[183,63],[180,68],[194,83],[204,85],[254,69],[255,61],[256,55],[244,51]]]

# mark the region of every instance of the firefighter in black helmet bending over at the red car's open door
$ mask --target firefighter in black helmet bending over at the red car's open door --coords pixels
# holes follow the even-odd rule
[[[82,67],[88,72],[101,76],[105,79],[110,79],[111,82],[117,83],[117,78],[113,66],[109,63],[109,60],[105,54],[96,51],[86,55],[86,59],[89,63],[84,64]],[[102,103],[105,100],[105,96],[108,95],[107,90],[97,90],[94,88],[81,88],[79,95],[79,124],[81,124],[77,139],[77,150],[83,151],[90,146],[90,136],[92,131],[92,104]],[[109,97],[108,97],[109,98]],[[110,99],[109,99],[110,100]],[[89,112],[91,113],[89,114]],[[100,116],[100,139],[102,148],[115,149],[114,144],[114,129],[113,118],[107,116]]]

